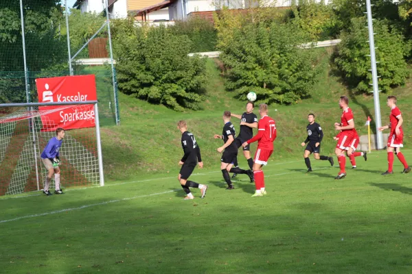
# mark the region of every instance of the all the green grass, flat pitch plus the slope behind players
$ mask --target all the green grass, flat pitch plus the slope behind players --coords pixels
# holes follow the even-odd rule
[[[334,180],[336,166],[313,158],[314,172],[305,173],[300,143],[308,113],[325,133],[323,155],[333,155],[336,144],[339,96],[350,97],[360,135],[367,133],[367,116],[374,119],[373,97],[347,89],[329,57],[319,50],[323,73],[312,97],[270,106],[278,137],[264,168],[266,197],[251,197],[254,185],[246,175],[236,178],[236,190],[225,190],[216,151],[222,141],[213,135],[222,132],[223,111],[241,114],[245,102],[225,92],[213,60],[200,111],[174,112],[120,94],[121,125],[101,127],[106,186],[0,197],[0,273],[412,273],[412,175],[400,174],[397,159],[389,177],[380,175],[387,170],[385,151],[372,151],[367,162],[357,158],[356,170],[347,159],[343,180]],[[392,92],[403,111],[407,149],[411,84]],[[383,124],[386,96],[380,95]],[[176,179],[181,119],[201,147],[205,169],[191,179],[209,185],[205,199],[193,190],[196,199],[184,201]],[[62,166],[62,177],[65,172]]]

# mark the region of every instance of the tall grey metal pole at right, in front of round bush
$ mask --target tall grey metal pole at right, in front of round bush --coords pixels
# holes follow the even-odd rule
[[[371,71],[372,71],[372,86],[374,87],[374,107],[375,107],[375,124],[376,124],[376,148],[383,149],[382,132],[380,121],[380,103],[379,103],[379,88],[378,88],[378,73],[376,70],[376,55],[375,55],[375,40],[374,40],[374,24],[372,22],[371,0],[366,0],[367,13],[367,29],[369,32],[369,49],[371,52]]]

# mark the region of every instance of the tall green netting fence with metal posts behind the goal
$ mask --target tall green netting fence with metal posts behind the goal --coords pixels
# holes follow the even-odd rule
[[[82,14],[65,0],[0,1],[0,103],[37,102],[38,77],[94,74],[100,125],[118,125],[111,56],[106,9]]]

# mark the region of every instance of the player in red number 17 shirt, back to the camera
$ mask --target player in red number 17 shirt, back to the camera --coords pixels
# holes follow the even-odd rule
[[[259,105],[259,114],[258,134],[242,144],[242,147],[246,147],[252,142],[258,141],[258,150],[255,153],[255,163],[253,164],[256,192],[252,197],[266,195],[262,166],[268,164],[268,159],[273,153],[273,141],[276,139],[275,120],[268,116],[268,105],[266,103]]]

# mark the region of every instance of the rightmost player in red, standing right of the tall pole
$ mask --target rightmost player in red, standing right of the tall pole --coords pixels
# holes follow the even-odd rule
[[[402,173],[409,173],[411,171],[411,167],[408,165],[407,160],[405,160],[402,152],[400,152],[400,148],[403,147],[403,118],[402,113],[396,106],[396,97],[389,96],[387,99],[387,105],[389,108],[391,108],[389,125],[378,128],[381,132],[384,129],[391,129],[387,145],[388,170],[382,173],[382,175],[393,174],[393,151],[395,151],[396,156],[398,156],[398,159],[404,165],[404,170],[402,171]]]

